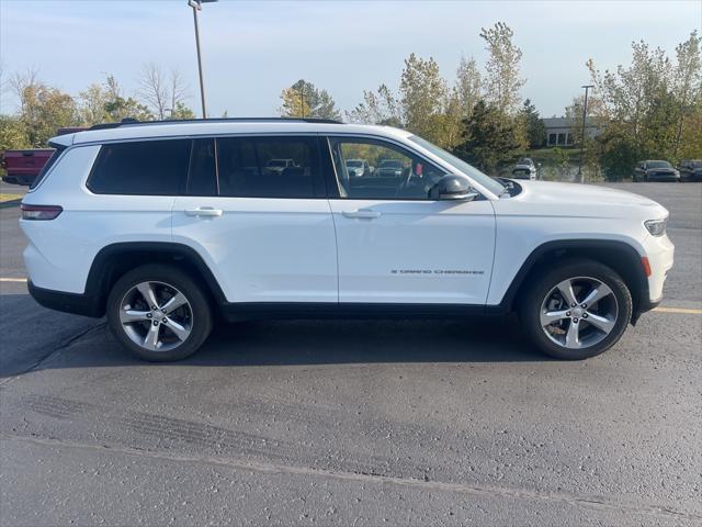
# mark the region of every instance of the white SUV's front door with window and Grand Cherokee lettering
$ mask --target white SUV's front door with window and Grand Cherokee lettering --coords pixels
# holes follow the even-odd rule
[[[484,305],[495,248],[490,202],[430,200],[445,171],[395,143],[328,141],[339,188],[330,199],[339,302]],[[355,170],[359,159],[367,170]]]

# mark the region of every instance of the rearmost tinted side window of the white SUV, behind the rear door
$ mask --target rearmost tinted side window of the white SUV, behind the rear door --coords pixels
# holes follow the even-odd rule
[[[97,194],[178,195],[185,187],[190,139],[102,145],[88,188]]]

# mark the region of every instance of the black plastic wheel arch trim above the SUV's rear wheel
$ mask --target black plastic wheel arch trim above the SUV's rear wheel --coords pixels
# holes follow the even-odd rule
[[[169,242],[125,242],[100,249],[88,272],[86,296],[92,300],[95,316],[104,315],[110,290],[124,273],[156,262],[170,264],[188,271],[191,277],[200,277],[210,301],[216,305],[226,302],[212,270],[192,247]]]

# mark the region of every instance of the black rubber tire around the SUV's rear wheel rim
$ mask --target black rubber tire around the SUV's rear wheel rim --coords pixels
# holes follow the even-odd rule
[[[166,287],[174,288],[178,292],[181,292],[188,300],[186,313],[190,314],[189,321],[189,335],[182,341],[172,338],[174,336],[171,332],[166,332],[168,336],[171,336],[171,340],[174,340],[173,349],[167,350],[150,350],[143,346],[137,345],[125,330],[120,316],[123,300],[129,294],[134,288],[143,282],[155,282]],[[147,307],[148,310],[148,307]],[[159,310],[157,310],[159,311]],[[154,312],[152,312],[154,313]],[[173,312],[173,316],[174,316]],[[181,312],[182,313],[182,312]],[[181,360],[190,355],[194,354],[200,346],[205,341],[210,332],[212,330],[212,310],[207,296],[203,292],[200,285],[197,285],[191,278],[178,268],[154,264],[137,267],[128,271],[122,278],[120,278],[112,287],[110,295],[107,298],[106,305],[107,324],[114,337],[122,344],[127,350],[129,350],[136,357],[148,360],[151,362],[167,362]],[[151,316],[154,316],[151,314]],[[165,316],[160,315],[159,316]],[[168,315],[170,316],[170,314]],[[154,319],[154,318],[151,318]],[[171,325],[173,319],[171,319]],[[163,324],[163,328],[170,329],[167,325],[168,319]],[[141,327],[149,327],[150,322],[144,321]],[[145,326],[144,326],[145,325]],[[178,344],[180,343],[180,344]]]

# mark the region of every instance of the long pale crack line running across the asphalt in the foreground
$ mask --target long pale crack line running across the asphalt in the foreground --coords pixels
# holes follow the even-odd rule
[[[564,492],[540,492],[526,489],[511,489],[456,482],[440,482],[433,480],[427,481],[427,479],[399,478],[375,474],[372,472],[365,473],[353,471],[336,471],[328,469],[316,469],[312,467],[298,467],[262,461],[247,461],[236,458],[186,456],[174,452],[144,450],[109,445],[91,445],[76,441],[66,441],[56,438],[43,438],[38,436],[27,437],[3,433],[0,433],[0,439],[8,441],[30,442],[33,445],[53,448],[71,448],[79,450],[92,450],[95,452],[112,452],[131,457],[150,458],[155,460],[166,460],[179,463],[211,464],[217,467],[226,467],[233,470],[248,470],[259,473],[332,478],[336,480],[348,482],[392,484],[396,486],[423,489],[438,492],[451,492],[474,496],[506,497],[512,500],[528,500],[536,502],[543,501],[551,503],[562,503],[576,507],[589,507],[599,511],[637,513],[658,517],[675,516],[676,518],[686,518],[690,520],[702,522],[702,512],[681,511],[665,505],[655,505],[648,503],[608,501],[603,497],[579,496],[575,494],[567,494]]]

